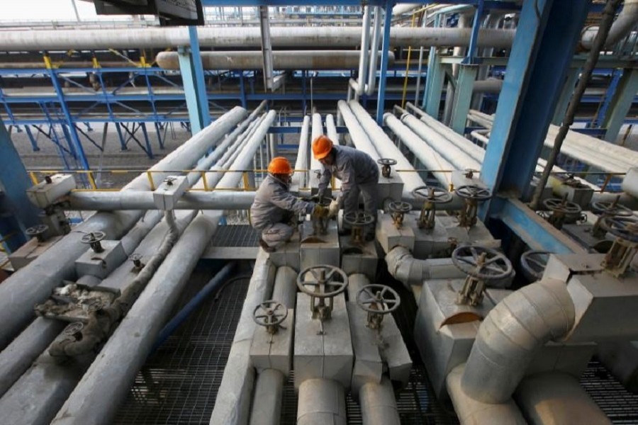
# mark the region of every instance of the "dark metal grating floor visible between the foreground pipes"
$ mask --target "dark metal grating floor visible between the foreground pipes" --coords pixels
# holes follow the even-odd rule
[[[218,267],[211,261],[201,263],[179,304],[185,304]],[[244,268],[149,356],[114,424],[208,424],[250,281],[250,266]],[[383,269],[379,273],[386,283],[391,281]],[[409,337],[417,308],[414,298],[400,284],[391,285],[401,295],[402,308],[395,319],[414,362],[409,385],[397,397],[401,424],[458,424],[451,404],[441,404],[433,396]],[[600,363],[592,361],[581,384],[614,424],[638,424],[638,396],[625,391]],[[284,387],[281,424],[295,423],[296,407],[291,378]],[[347,414],[349,424],[362,424],[359,406],[350,397]]]

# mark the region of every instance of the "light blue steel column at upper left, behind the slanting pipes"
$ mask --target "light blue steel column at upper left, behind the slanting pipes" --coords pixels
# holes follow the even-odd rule
[[[208,110],[206,81],[199,53],[197,28],[189,26],[189,35],[191,46],[179,47],[177,52],[181,81],[184,84],[184,94],[186,95],[186,106],[189,109],[191,132],[196,134],[211,123],[211,113]]]

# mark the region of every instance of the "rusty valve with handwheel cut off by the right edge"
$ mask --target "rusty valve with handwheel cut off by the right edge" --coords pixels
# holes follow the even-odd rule
[[[638,218],[603,217],[600,226],[616,237],[608,253],[605,254],[603,267],[612,276],[617,278],[624,276],[638,251]]]

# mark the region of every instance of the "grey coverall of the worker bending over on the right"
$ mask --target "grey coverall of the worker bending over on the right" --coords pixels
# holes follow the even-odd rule
[[[347,146],[333,146],[335,162],[323,166],[319,180],[319,194],[325,192],[332,176],[341,180],[341,193],[337,197],[344,214],[356,212],[359,208],[359,192],[362,194],[364,211],[374,217],[374,222],[366,232],[374,232],[376,223],[377,185],[379,166],[369,154]]]

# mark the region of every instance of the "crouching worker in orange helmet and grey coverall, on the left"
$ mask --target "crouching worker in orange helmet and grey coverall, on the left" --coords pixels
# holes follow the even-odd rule
[[[306,202],[289,192],[293,169],[288,159],[273,158],[268,164],[268,175],[259,185],[250,207],[252,227],[262,232],[259,246],[273,252],[290,240],[299,213],[313,218],[328,216],[328,208]]]

